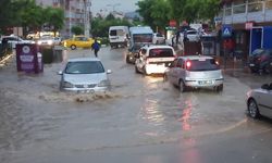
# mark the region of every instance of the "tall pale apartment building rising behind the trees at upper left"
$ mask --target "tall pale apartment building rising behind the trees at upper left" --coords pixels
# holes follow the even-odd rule
[[[63,37],[71,37],[73,26],[85,28],[85,35],[89,36],[90,28],[90,0],[36,0],[41,7],[62,8],[64,10],[64,28],[61,30]]]

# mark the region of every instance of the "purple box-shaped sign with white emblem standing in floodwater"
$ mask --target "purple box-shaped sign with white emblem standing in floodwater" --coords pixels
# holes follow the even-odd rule
[[[16,45],[17,71],[26,73],[38,73],[41,71],[38,65],[37,53],[36,45]]]

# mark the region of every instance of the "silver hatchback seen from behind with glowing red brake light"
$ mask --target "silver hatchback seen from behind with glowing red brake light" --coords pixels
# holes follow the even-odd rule
[[[224,77],[213,58],[186,55],[174,60],[166,70],[164,79],[177,86],[181,92],[187,88],[214,88],[222,91]]]

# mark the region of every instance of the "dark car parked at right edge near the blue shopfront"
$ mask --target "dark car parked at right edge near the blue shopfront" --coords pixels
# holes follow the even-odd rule
[[[249,68],[252,73],[272,72],[272,49],[256,49],[248,60]]]

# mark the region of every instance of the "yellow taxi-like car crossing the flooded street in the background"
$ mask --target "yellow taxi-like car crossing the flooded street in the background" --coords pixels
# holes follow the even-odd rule
[[[71,48],[75,50],[76,48],[91,48],[91,45],[95,42],[92,38],[87,38],[85,36],[75,36],[71,39],[62,41],[62,45],[65,48]]]

